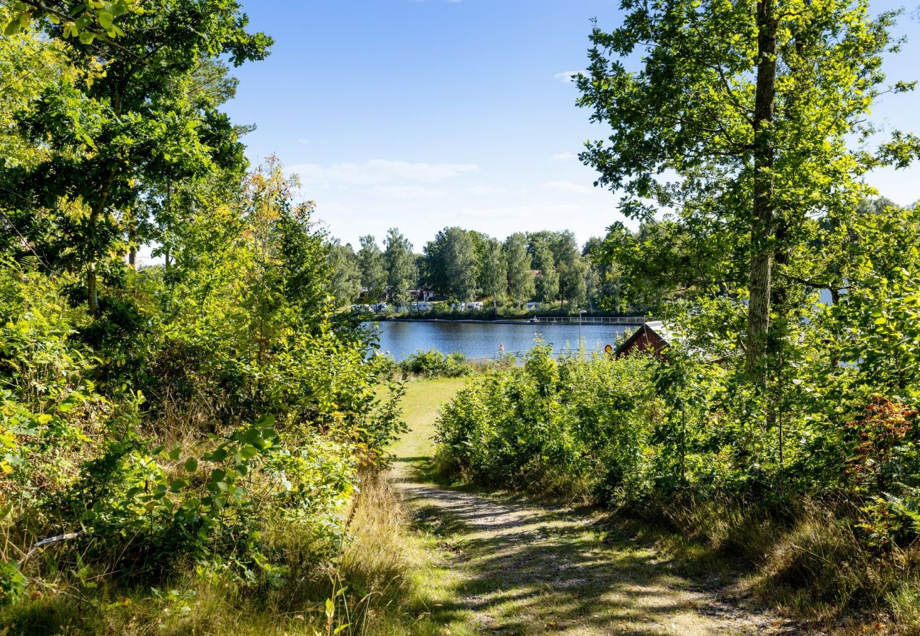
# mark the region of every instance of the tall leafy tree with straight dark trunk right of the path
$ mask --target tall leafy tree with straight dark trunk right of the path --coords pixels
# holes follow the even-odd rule
[[[849,213],[870,191],[869,169],[903,167],[920,149],[897,132],[875,152],[849,146],[872,130],[894,15],[873,19],[866,3],[845,0],[622,6],[622,27],[593,29],[577,80],[579,104],[613,129],[581,160],[599,171],[596,185],[626,192],[627,215],[648,219],[652,199],[680,210],[679,222],[712,219],[731,237],[747,266],[745,366],[763,381],[771,304],[783,314],[787,274],[809,267],[796,259],[810,220]],[[633,59],[638,71],[627,70]]]

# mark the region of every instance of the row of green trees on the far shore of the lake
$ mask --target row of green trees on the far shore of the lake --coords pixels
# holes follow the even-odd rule
[[[414,292],[450,301],[486,299],[493,308],[508,302],[558,302],[569,308],[611,308],[618,280],[592,260],[600,239],[579,246],[571,232],[514,233],[504,241],[474,230],[444,228],[421,253],[397,229],[383,248],[374,236],[351,244],[332,240],[330,291],[339,302],[391,301],[407,305]],[[410,295],[410,291],[413,295]]]

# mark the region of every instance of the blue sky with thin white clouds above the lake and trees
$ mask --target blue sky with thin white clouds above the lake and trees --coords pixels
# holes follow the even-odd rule
[[[270,57],[236,69],[227,110],[255,123],[250,160],[277,154],[299,173],[330,233],[357,244],[398,227],[416,250],[460,225],[504,238],[570,229],[603,235],[616,195],[592,187],[575,154],[604,129],[574,106],[591,18],[618,24],[607,0],[250,0]],[[877,2],[873,10],[897,6]],[[920,22],[888,62],[920,77]],[[920,96],[886,98],[873,119],[920,132]],[[920,198],[920,168],[870,179],[899,203]]]

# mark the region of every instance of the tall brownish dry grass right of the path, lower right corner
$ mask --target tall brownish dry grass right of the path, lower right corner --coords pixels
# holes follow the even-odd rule
[[[802,501],[782,515],[728,502],[661,505],[648,539],[689,567],[737,575],[733,592],[831,632],[920,634],[920,542],[868,549],[851,505]]]

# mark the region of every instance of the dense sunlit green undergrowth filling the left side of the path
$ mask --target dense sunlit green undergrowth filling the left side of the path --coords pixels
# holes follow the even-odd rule
[[[275,164],[247,177],[239,199],[184,226],[171,267],[113,272],[97,315],[74,278],[5,262],[12,630],[306,630],[329,597],[370,594],[366,614],[399,585],[384,563],[349,560],[348,524],[401,430],[400,388],[377,397],[386,369],[366,356],[371,335],[331,311],[322,237],[289,185]]]

